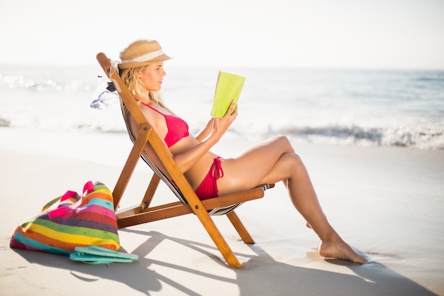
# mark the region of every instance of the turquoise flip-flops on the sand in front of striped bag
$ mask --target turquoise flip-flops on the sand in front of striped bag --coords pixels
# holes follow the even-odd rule
[[[76,247],[74,250],[70,259],[88,264],[131,263],[139,258],[135,254],[120,253],[99,246]]]

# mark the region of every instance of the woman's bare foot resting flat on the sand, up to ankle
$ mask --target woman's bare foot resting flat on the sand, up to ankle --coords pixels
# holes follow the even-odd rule
[[[340,239],[340,237],[328,241],[321,240],[318,246],[318,252],[319,255],[324,258],[343,259],[361,264],[367,262],[365,258],[357,255],[357,253],[353,251],[345,241]]]

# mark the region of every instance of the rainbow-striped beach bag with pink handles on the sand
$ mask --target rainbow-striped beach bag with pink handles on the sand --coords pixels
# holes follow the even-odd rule
[[[18,226],[11,248],[70,255],[79,246],[100,246],[117,251],[113,196],[101,182],[89,181],[82,195],[67,191],[45,204],[38,216]]]

